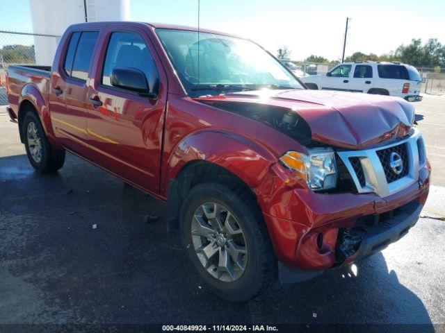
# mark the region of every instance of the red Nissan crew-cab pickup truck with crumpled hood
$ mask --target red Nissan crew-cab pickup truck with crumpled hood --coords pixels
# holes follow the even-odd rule
[[[70,26],[51,68],[8,67],[8,99],[38,172],[70,151],[166,201],[168,229],[229,300],[378,252],[428,196],[410,103],[305,89],[224,33]]]

